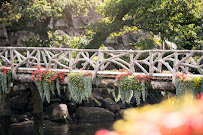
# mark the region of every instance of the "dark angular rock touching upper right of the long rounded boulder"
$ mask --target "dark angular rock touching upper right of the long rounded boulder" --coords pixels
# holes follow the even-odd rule
[[[102,106],[112,112],[116,112],[120,110],[120,107],[118,104],[116,104],[111,98],[105,98],[102,101]]]

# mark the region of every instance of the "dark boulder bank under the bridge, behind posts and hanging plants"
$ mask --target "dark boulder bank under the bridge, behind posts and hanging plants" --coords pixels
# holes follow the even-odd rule
[[[115,102],[112,90],[114,88],[106,83],[98,87],[93,86],[92,96],[76,103],[73,101],[68,90],[61,90],[62,96],[51,96],[50,103],[44,101],[44,120],[52,122],[101,122],[114,121],[122,117],[124,109],[136,107],[135,98],[130,103]],[[162,101],[164,97],[158,90],[150,90],[145,104],[154,104]],[[27,126],[33,120],[32,93],[29,85],[17,85],[10,94],[12,122],[14,127]],[[29,126],[29,125],[28,125]]]

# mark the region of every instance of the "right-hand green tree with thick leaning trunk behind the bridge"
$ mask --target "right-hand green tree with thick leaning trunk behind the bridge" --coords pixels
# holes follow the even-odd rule
[[[95,35],[87,48],[98,48],[112,32],[126,26],[159,34],[162,40],[188,49],[202,41],[201,0],[104,0],[98,12],[104,18],[92,27]]]

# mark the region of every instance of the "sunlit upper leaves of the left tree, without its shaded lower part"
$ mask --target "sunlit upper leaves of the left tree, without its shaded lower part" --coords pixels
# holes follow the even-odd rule
[[[2,4],[0,22],[13,25],[14,22],[44,21],[49,17],[62,17],[64,9],[75,14],[86,14],[87,9],[95,4],[86,0],[26,0],[10,1]]]

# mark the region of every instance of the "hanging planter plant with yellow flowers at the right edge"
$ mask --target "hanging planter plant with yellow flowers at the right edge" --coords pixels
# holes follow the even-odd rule
[[[184,73],[176,74],[176,96],[180,97],[187,92],[193,93],[196,97],[198,93],[203,92],[203,78],[202,77],[189,77]]]

